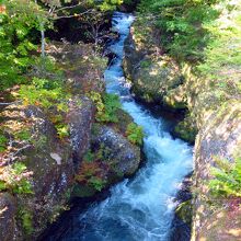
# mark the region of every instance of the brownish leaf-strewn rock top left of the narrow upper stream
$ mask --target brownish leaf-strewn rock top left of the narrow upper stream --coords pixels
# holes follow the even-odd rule
[[[64,69],[69,91],[74,95],[104,92],[103,71],[107,58],[97,57],[92,44],[51,42],[47,51]]]

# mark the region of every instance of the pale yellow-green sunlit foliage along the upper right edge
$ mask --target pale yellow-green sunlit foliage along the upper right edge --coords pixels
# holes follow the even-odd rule
[[[241,94],[241,2],[236,8],[226,2],[222,9],[223,13],[215,24],[205,25],[213,36],[198,70],[213,81],[214,90],[226,100]]]

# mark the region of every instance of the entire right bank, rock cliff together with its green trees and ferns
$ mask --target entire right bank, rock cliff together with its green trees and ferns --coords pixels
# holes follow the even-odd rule
[[[195,142],[194,240],[240,238],[240,0],[142,0],[126,43],[136,96],[185,111],[174,135]]]

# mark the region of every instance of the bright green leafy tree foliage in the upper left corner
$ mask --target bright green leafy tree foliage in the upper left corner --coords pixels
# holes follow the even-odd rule
[[[37,31],[39,11],[33,1],[3,1],[0,12],[0,91],[25,81],[23,74],[32,64],[31,51],[37,49],[32,32]]]

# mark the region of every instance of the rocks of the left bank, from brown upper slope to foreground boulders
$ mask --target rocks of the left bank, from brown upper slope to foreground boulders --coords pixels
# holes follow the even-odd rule
[[[119,115],[126,125],[95,124],[88,93],[104,92],[106,61],[95,58],[89,45],[55,43],[48,51],[65,70],[72,93],[60,116],[69,136],[60,138],[53,116],[37,105],[14,103],[1,110],[9,142],[0,152],[0,240],[35,240],[71,197],[94,195],[133,174],[140,162],[139,147],[122,133],[131,122],[126,113]],[[95,158],[88,159],[92,152]],[[1,186],[5,173],[7,187]],[[21,173],[21,184],[15,184],[15,173]]]

